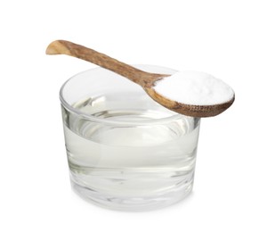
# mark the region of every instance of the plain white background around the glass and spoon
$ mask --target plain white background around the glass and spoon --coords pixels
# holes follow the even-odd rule
[[[1,231],[266,231],[266,1],[1,1]],[[203,70],[236,92],[202,120],[193,193],[109,211],[69,185],[59,89],[94,65],[46,56],[68,39],[128,63]]]

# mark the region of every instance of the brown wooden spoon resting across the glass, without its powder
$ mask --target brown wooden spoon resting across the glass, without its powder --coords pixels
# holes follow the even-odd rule
[[[143,87],[148,95],[158,104],[161,104],[171,111],[179,112],[191,117],[211,117],[218,115],[228,109],[234,102],[234,96],[228,102],[223,104],[213,105],[192,105],[181,104],[159,95],[155,90],[155,82],[159,79],[166,78],[170,75],[150,73],[143,70],[138,70],[124,62],[119,62],[106,54],[101,54],[93,49],[85,46],[80,46],[66,40],[55,40],[46,49],[46,54],[67,54],[77,57],[87,62],[93,62],[102,68],[112,70],[117,74],[134,81],[136,84]]]

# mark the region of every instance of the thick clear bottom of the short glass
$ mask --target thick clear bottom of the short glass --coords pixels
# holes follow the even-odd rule
[[[90,203],[116,211],[152,211],[178,203],[190,194],[193,178],[194,172],[191,171],[177,178],[176,184],[151,195],[147,192],[145,195],[124,195],[124,192],[114,195],[112,191],[98,192],[92,187],[85,186],[76,174],[70,173],[71,186],[77,195]]]

